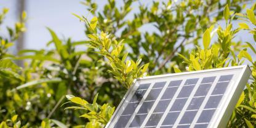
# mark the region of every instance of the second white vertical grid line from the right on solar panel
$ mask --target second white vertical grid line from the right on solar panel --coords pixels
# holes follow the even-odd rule
[[[186,103],[183,106],[182,111],[180,112],[178,118],[176,119],[176,121],[174,123],[174,127],[178,127],[178,124],[182,121],[182,119],[183,119],[182,117],[184,114],[186,114],[186,113],[193,113],[193,114],[195,113],[196,114],[197,111],[186,112],[186,109],[188,108],[188,105],[190,105],[190,102],[193,99],[194,94],[196,94],[196,90],[198,90],[198,87],[200,86],[201,82],[202,82],[202,78],[199,78],[198,82],[196,83],[196,86],[193,88],[193,90],[191,90],[190,96],[188,97],[188,100],[186,100]],[[192,115],[191,115],[191,117],[192,117]]]

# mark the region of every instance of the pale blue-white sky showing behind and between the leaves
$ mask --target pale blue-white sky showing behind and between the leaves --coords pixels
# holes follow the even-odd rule
[[[143,4],[151,4],[153,0],[150,1],[139,1]],[[95,0],[98,3],[98,9],[103,10],[103,6],[107,1]],[[122,1],[116,1],[116,6],[121,6],[124,4]],[[247,7],[250,7],[252,4],[247,4]],[[150,6],[150,5],[148,5]],[[18,20],[18,15],[22,13],[22,10],[25,10],[27,13],[28,20],[26,21],[26,32],[18,39],[18,43],[15,43],[16,47],[12,47],[12,52],[15,54],[20,49],[51,49],[52,47],[46,47],[47,42],[50,41],[50,33],[47,31],[46,27],[54,30],[60,38],[67,39],[71,38],[73,41],[81,41],[86,39],[84,34],[84,25],[79,22],[78,18],[74,17],[72,13],[78,15],[87,15],[88,11],[86,6],[84,6],[79,0],[1,0],[0,9],[3,7],[9,8],[9,13],[5,19],[6,22],[2,25],[12,26],[15,21]],[[133,13],[138,12],[138,2],[134,2],[132,5],[133,10],[127,16],[127,18],[133,18]],[[89,18],[92,15],[88,15]],[[234,22],[235,27],[237,27],[238,22]],[[220,21],[220,25],[224,26],[225,21]],[[143,25],[140,28],[140,31],[154,31],[152,25]],[[1,29],[1,28],[0,28]],[[150,32],[148,31],[148,32]],[[251,36],[247,36],[246,31],[242,31],[239,35],[236,36],[236,40],[253,42]],[[2,29],[0,34],[7,34],[6,29]],[[214,38],[216,39],[216,38]],[[82,49],[82,47],[80,47]],[[251,51],[249,51],[251,53]]]

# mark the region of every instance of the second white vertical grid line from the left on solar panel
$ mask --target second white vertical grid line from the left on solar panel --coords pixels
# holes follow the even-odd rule
[[[145,118],[145,120],[143,121],[142,123],[142,126],[141,127],[145,127],[146,123],[148,122],[148,119],[150,119],[154,109],[156,108],[156,106],[158,105],[159,103],[159,100],[161,99],[162,95],[164,95],[164,92],[166,90],[166,88],[168,87],[170,81],[166,82],[166,84],[164,85],[164,87],[162,88],[160,94],[158,95],[158,98],[156,99],[156,101],[154,102],[154,105],[152,106],[151,110],[148,112],[150,114],[148,114]]]

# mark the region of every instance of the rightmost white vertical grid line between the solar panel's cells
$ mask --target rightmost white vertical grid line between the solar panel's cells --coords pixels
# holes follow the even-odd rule
[[[212,94],[212,91],[214,90],[216,84],[217,84],[217,81],[218,79],[220,79],[220,76],[216,76],[214,82],[212,83],[212,86],[210,87],[209,91],[207,92],[207,95],[206,97],[204,98],[204,101],[202,102],[199,110],[198,110],[198,113],[196,113],[196,116],[194,116],[194,119],[193,121],[191,122],[191,126],[190,128],[193,128],[195,125],[196,125],[196,122],[198,121],[198,118],[199,116],[201,116],[201,113],[202,113],[202,110],[204,109],[204,106],[206,105],[209,97],[210,97],[210,94]]]

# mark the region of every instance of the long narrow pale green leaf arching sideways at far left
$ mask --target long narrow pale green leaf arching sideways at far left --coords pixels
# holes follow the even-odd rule
[[[62,79],[60,78],[52,78],[52,79],[38,79],[38,80],[35,80],[35,81],[30,81],[30,82],[27,82],[25,84],[22,84],[18,87],[16,87],[15,89],[23,89],[25,87],[29,87],[29,86],[34,86],[34,85],[37,85],[37,84],[42,84],[42,83],[49,83],[49,82],[61,82]],[[14,91],[15,89],[12,89],[12,91]]]

